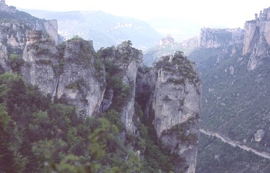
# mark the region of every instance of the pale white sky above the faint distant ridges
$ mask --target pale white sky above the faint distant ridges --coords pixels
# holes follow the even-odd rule
[[[6,0],[6,4],[39,10],[102,10],[112,15],[142,20],[161,16],[184,18],[205,27],[227,28],[243,28],[245,21],[254,19],[256,12],[270,7],[270,1],[266,0]]]

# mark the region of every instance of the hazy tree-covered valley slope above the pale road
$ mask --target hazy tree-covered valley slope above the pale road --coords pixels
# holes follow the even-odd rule
[[[263,59],[262,65],[249,71],[249,56],[222,48],[199,48],[190,54],[203,82],[201,127],[270,152],[270,62]],[[264,135],[258,141],[260,129]]]

